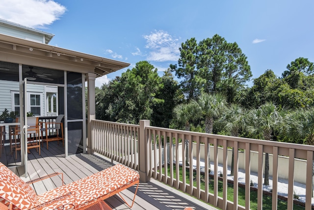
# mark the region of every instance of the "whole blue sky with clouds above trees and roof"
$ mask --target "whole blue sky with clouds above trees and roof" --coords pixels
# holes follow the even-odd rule
[[[313,0],[0,0],[0,18],[55,34],[50,45],[130,63],[160,75],[182,42],[219,34],[247,56],[252,78],[314,62]],[[97,79],[97,86],[126,69]]]

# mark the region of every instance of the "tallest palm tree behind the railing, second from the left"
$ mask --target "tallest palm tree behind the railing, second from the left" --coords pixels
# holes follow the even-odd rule
[[[193,107],[195,117],[205,119],[205,133],[212,133],[214,120],[220,117],[220,114],[226,107],[227,101],[224,96],[218,93],[202,93],[197,100],[192,99],[190,104]],[[210,168],[210,158],[208,161]]]

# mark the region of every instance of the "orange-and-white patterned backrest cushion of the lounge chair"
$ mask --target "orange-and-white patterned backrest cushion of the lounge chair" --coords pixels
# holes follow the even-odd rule
[[[4,199],[2,203],[10,201],[20,210],[38,205],[36,192],[2,163],[0,163],[0,196]]]

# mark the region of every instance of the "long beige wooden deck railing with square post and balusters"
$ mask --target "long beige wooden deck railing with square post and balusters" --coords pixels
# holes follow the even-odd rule
[[[92,120],[91,129],[93,150],[138,170],[142,181],[151,178],[159,180],[223,210],[250,209],[252,151],[258,152],[258,160],[254,162],[258,164],[258,186],[263,185],[264,154],[272,154],[269,166],[272,167],[272,209],[275,210],[278,200],[278,157],[288,158],[287,165],[280,167],[288,168],[287,209],[292,210],[295,159],[303,159],[306,161],[306,169],[302,172],[306,174],[305,208],[312,208],[313,146],[166,129],[150,126],[149,120],[141,120],[140,125]],[[188,150],[185,143],[188,143]],[[230,161],[228,163],[228,148],[235,150],[233,202],[227,200],[228,164],[231,164]],[[238,204],[239,152],[244,152],[245,158],[245,207]],[[209,156],[212,157],[211,167]],[[218,171],[218,156],[222,156],[222,171]],[[189,158],[188,164],[185,163],[186,157]],[[211,172],[213,178],[205,172]],[[222,197],[218,196],[219,179],[223,181]],[[213,192],[209,192],[209,180],[213,183]],[[262,187],[258,187],[258,209],[263,206],[262,196]]]

